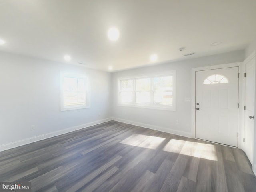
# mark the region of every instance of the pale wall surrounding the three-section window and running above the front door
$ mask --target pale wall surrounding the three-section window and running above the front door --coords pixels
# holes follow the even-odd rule
[[[185,61],[170,62],[166,64],[115,72],[112,74],[113,116],[117,118],[117,120],[123,122],[138,124],[174,134],[192,136],[191,102],[184,101],[185,98],[191,98],[191,69],[201,66],[242,62],[243,60],[244,51],[240,50]],[[168,70],[176,70],[176,111],[118,106],[117,78]],[[178,120],[179,124],[176,124],[176,120]]]

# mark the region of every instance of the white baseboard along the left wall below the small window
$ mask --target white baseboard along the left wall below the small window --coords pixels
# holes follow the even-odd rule
[[[3,144],[3,145],[0,145],[0,151],[4,151],[4,150],[8,150],[8,149],[15,148],[15,147],[18,147],[18,146],[33,143],[33,142],[36,142],[36,141],[48,139],[48,138],[51,138],[51,137],[55,137],[55,136],[58,136],[58,135],[62,135],[62,134],[65,134],[65,133],[76,131],[76,130],[79,130],[79,129],[82,129],[82,128],[94,126],[94,125],[97,125],[97,124],[100,124],[100,123],[111,121],[112,119],[113,118],[106,118],[106,119],[102,119],[102,120],[98,120],[98,121],[94,121],[94,122],[90,122],[90,123],[86,123],[86,124],[66,128],[64,130],[54,131],[54,132],[50,132],[50,133],[47,133],[47,134],[42,134],[42,135],[38,135],[38,136],[35,136],[35,137],[26,138],[26,139],[23,139],[23,140],[18,140],[16,142]]]

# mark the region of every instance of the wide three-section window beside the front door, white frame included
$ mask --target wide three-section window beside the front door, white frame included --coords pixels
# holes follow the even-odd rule
[[[175,111],[176,71],[119,78],[119,105]]]

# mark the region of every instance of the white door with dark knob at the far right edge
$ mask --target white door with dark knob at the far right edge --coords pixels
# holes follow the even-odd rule
[[[254,137],[254,89],[255,89],[255,56],[246,60],[245,66],[245,110],[244,110],[244,152],[252,163]],[[252,118],[253,117],[253,118]]]

